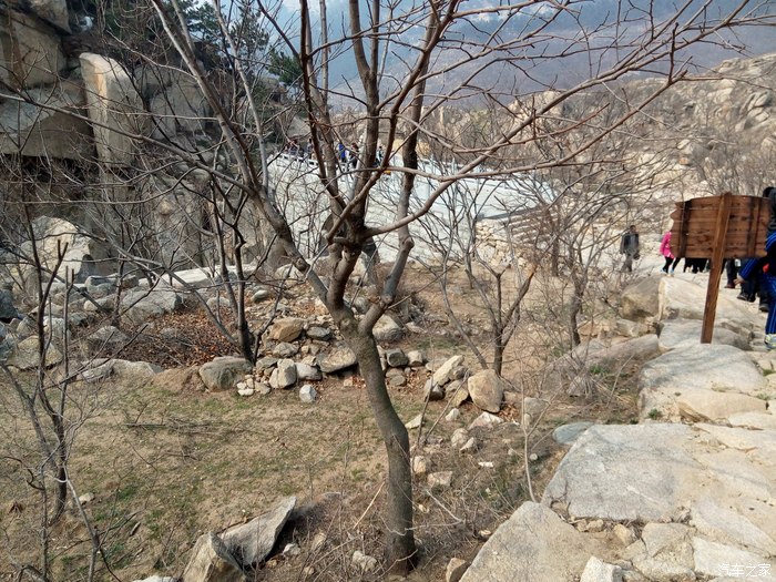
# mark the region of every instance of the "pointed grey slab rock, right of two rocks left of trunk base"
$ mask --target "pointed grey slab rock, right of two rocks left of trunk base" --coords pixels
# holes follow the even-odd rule
[[[222,539],[239,563],[244,566],[255,566],[269,554],[295,507],[295,497],[282,499],[266,513],[226,530]]]

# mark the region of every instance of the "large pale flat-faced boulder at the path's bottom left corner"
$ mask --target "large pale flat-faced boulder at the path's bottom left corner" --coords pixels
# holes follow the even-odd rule
[[[499,525],[461,582],[572,582],[603,548],[551,509],[525,502]]]

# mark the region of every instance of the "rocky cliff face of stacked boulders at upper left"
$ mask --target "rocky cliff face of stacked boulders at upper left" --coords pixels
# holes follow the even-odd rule
[[[65,0],[3,2],[0,19],[0,81],[8,86],[0,91],[0,154],[10,156],[3,171],[16,174],[4,180],[6,200],[58,202],[55,211],[42,212],[109,238],[143,238],[146,254],[162,263],[181,265],[182,256],[188,257],[183,264],[195,263],[206,205],[191,194],[201,192],[208,176],[180,163],[160,170],[164,160],[142,140],[152,136],[187,151],[211,142],[208,112],[193,79],[174,68],[127,70],[110,57],[74,48],[73,33],[82,32],[86,18],[69,10]],[[18,162],[18,154],[29,162]],[[13,164],[25,169],[23,175]],[[82,203],[106,195],[147,204],[127,206],[113,219],[104,207]]]

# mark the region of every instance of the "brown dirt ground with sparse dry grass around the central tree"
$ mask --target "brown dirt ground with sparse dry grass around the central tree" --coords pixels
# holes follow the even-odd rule
[[[472,325],[481,325],[478,299],[468,286],[458,282],[451,290],[458,313]],[[433,285],[423,283],[406,293],[425,307],[423,313],[443,314]],[[535,297],[545,294],[538,292]],[[534,380],[535,370],[527,364],[538,360],[549,345],[545,338],[537,339],[542,317],[525,316],[513,340],[519,347],[510,350],[506,374],[525,395],[552,402],[528,446],[529,455],[537,455],[529,466],[538,497],[563,455],[550,437],[552,429],[582,419],[632,420],[637,369],[633,365],[616,377],[610,370],[593,370],[605,390],[590,398],[553,391]],[[420,323],[428,333],[410,336],[401,347],[422,347],[429,358],[467,354],[469,365],[477,368],[461,340],[439,318]],[[213,339],[215,333],[201,325],[196,312],[167,316],[156,328],[165,326],[180,328],[186,343],[197,348],[160,349],[161,364],[174,360],[177,366],[193,366],[232,351]],[[483,336],[476,339],[484,341]],[[147,356],[154,340],[143,341],[122,356]],[[361,574],[350,565],[357,549],[380,555],[385,529],[380,519],[385,451],[360,378],[346,382],[344,377],[331,377],[316,382],[320,396],[310,406],[299,401],[296,390],[251,398],[207,394],[197,388],[192,370],[165,372],[151,385],[120,386],[108,380],[71,388],[68,410],[78,420],[72,425],[78,431],[71,478],[79,494],[94,496],[85,509],[115,574],[101,566],[96,579],[180,574],[200,534],[241,523],[279,498],[295,494],[299,509],[276,550],[293,541],[302,553],[276,552],[253,579],[381,580],[382,572]],[[422,410],[426,378],[425,370],[417,370],[407,387],[391,389],[402,419]],[[0,531],[6,547],[0,551],[0,580],[11,580],[10,558],[31,559],[35,554],[40,511],[39,498],[25,481],[29,474],[21,469],[32,463],[38,452],[18,399],[4,381],[0,378]],[[529,499],[522,428],[506,422],[476,431],[478,452],[462,456],[450,451],[448,439],[456,428],[468,426],[479,410],[469,402],[461,408],[459,421],[436,423],[446,413],[445,406],[443,401],[428,405],[425,430],[431,425],[433,430],[422,453],[430,459],[431,471],[453,471],[453,484],[447,491],[429,491],[425,478],[416,479],[416,535],[421,559],[409,576],[415,582],[443,580],[451,557],[472,559],[489,532]],[[502,410],[501,417],[520,420],[519,410],[511,407]],[[417,431],[411,431],[410,438],[416,443]],[[515,452],[508,455],[509,449]],[[482,468],[479,461],[492,461],[494,467]],[[327,542],[313,551],[310,540],[318,532],[326,532]],[[80,520],[68,513],[52,540],[55,580],[84,579],[85,540]],[[312,572],[305,570],[308,566]]]

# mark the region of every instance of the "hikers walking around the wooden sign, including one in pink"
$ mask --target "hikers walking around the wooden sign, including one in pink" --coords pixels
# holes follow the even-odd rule
[[[754,302],[759,297],[759,310],[767,312],[765,323],[765,347],[768,350],[776,349],[776,186],[763,190],[763,197],[770,203],[770,221],[765,241],[765,256],[747,257],[743,259],[725,259],[727,275],[726,289],[735,289],[741,286],[737,299]],[[631,225],[620,238],[620,253],[625,255],[622,272],[633,272],[633,262],[640,258],[639,232],[635,225]],[[662,273],[673,276],[680,258],[671,248],[671,231],[663,235],[660,245],[660,254],[665,258]],[[708,270],[707,258],[684,259],[684,270],[692,268],[693,273]]]

